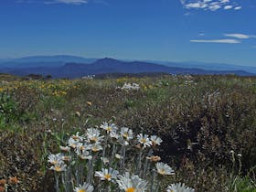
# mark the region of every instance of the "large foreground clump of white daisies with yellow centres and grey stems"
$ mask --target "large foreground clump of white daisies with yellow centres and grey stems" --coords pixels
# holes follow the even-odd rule
[[[61,180],[65,191],[144,192],[149,187],[159,191],[157,175],[175,174],[169,165],[159,162],[159,156],[153,155],[162,142],[156,135],[135,136],[130,128],[102,123],[99,128],[71,135],[67,145],[60,146],[62,153],[48,156],[49,169],[55,171],[57,189]],[[131,154],[134,151],[136,154]],[[167,191],[180,191],[175,187],[172,184]]]

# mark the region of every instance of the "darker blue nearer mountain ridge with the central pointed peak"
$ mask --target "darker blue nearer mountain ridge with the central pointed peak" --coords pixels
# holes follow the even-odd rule
[[[255,75],[243,70],[205,70],[196,68],[177,68],[159,65],[142,61],[121,61],[117,59],[98,59],[91,64],[85,63],[67,63],[64,66],[57,67],[33,67],[33,68],[3,68],[0,72],[14,75],[28,75],[31,73],[52,75],[54,78],[80,78],[86,75],[97,75],[104,73],[150,73],[165,72],[171,74],[237,74],[242,76]]]

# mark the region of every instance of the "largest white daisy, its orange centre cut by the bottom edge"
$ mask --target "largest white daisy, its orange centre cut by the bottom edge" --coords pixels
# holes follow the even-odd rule
[[[146,190],[147,182],[139,176],[130,176],[130,173],[125,172],[124,176],[117,176],[116,182],[120,189],[125,192],[144,192]]]

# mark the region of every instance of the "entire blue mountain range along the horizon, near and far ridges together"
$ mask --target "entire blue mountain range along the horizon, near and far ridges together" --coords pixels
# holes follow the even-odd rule
[[[236,74],[256,75],[256,68],[216,63],[123,61],[118,59],[84,59],[74,56],[35,56],[0,60],[0,73],[19,76],[28,74],[51,75],[53,78],[80,78],[104,73],[171,74]]]

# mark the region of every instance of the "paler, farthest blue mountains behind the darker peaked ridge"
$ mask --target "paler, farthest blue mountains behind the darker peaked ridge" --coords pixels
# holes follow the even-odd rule
[[[64,66],[66,63],[91,64],[96,61],[97,59],[85,59],[82,57],[69,56],[69,55],[32,56],[32,57],[25,57],[21,59],[0,59],[0,69],[3,69],[3,68],[27,69],[27,68],[41,68],[41,67],[57,68],[57,67]],[[123,60],[123,61],[135,62],[131,60],[130,61]],[[204,69],[204,70],[214,70],[214,71],[242,70],[242,71],[256,74],[256,67],[237,66],[237,65],[224,64],[224,63],[207,63],[207,62],[197,62],[197,61],[170,62],[170,61],[159,61],[159,60],[142,60],[141,62],[157,63],[160,65],[165,65],[165,66],[174,67],[174,68]],[[114,65],[114,63],[115,62],[112,60],[112,65]]]

